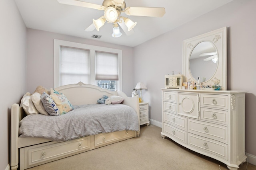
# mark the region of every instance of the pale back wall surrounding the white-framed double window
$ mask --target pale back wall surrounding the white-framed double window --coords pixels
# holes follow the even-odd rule
[[[122,50],[123,91],[132,96],[134,50],[132,47],[104,43],[97,40],[72,37],[36,29],[27,29],[27,91],[32,93],[37,86],[54,88],[54,39],[97,45]]]

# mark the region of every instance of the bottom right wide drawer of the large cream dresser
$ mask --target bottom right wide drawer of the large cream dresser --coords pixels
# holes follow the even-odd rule
[[[228,145],[188,133],[188,145],[202,152],[228,160]]]

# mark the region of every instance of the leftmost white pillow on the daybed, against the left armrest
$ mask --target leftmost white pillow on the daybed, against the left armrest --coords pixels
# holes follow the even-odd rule
[[[24,109],[27,115],[38,114],[36,107],[31,100],[31,94],[27,92],[20,101],[20,106]]]

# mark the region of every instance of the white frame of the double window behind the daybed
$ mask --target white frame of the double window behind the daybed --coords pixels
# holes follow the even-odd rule
[[[96,83],[96,74],[95,74],[95,52],[101,51],[106,53],[116,53],[118,54],[118,80],[117,81],[117,89],[122,91],[122,50],[120,49],[112,49],[107,47],[100,47],[95,45],[87,45],[82,43],[74,43],[70,41],[63,41],[54,39],[54,88],[60,86],[60,47],[73,47],[79,49],[87,49],[90,50],[89,58],[90,58],[90,82],[89,84],[93,84],[97,86]]]

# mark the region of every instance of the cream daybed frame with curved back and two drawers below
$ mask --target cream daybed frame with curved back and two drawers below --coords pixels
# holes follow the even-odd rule
[[[124,98],[123,104],[132,107],[137,112],[138,120],[140,121],[138,96],[130,98],[127,97],[124,92],[105,90],[98,86],[84,84],[82,82],[60,86],[55,88],[55,90],[65,94],[72,105],[96,104],[96,101],[102,98],[103,95],[122,96]],[[140,135],[140,131],[116,131],[112,133],[100,133],[65,142],[56,142],[33,137],[22,138],[19,137],[19,121],[25,116],[26,114],[22,107],[18,104],[12,105],[10,143],[11,170],[18,169],[18,166],[20,166],[20,170],[24,170]]]

